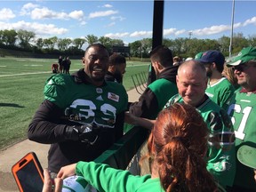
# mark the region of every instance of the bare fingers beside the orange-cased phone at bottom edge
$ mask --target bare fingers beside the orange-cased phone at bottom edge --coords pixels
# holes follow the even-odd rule
[[[61,192],[63,180],[55,178],[52,180],[48,169],[44,169],[44,187],[42,192]]]

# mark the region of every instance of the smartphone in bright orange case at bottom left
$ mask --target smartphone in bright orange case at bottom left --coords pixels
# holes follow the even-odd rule
[[[34,152],[29,152],[14,164],[12,174],[20,192],[42,192],[44,172]]]

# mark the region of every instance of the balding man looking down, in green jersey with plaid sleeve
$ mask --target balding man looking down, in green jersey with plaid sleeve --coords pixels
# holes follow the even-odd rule
[[[207,170],[224,188],[232,186],[236,172],[233,126],[227,112],[205,94],[207,77],[204,64],[197,60],[182,63],[178,69],[177,86],[179,94],[173,96],[165,107],[176,102],[196,107],[211,133]]]

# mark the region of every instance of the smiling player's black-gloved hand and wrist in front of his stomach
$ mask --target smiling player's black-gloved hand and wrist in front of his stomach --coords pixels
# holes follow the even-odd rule
[[[82,124],[67,126],[65,132],[66,140],[80,140],[93,145],[98,140],[100,127],[96,124]]]

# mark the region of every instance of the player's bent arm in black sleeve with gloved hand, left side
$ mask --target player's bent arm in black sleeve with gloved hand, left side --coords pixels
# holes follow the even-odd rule
[[[64,140],[92,143],[99,130],[90,124],[60,124],[62,110],[50,100],[44,100],[28,126],[28,139],[51,144]]]

